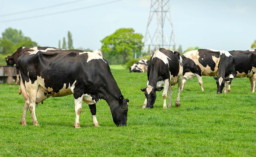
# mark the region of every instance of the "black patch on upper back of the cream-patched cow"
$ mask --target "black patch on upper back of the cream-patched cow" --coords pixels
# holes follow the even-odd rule
[[[216,63],[213,61],[212,57],[215,56],[219,58],[220,52],[210,51],[208,49],[198,49],[198,61],[202,66],[207,67],[207,65],[214,71]]]

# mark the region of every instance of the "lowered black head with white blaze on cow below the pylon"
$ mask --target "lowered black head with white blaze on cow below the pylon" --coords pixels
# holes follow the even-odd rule
[[[147,98],[147,106],[146,108],[153,108],[154,103],[156,101],[156,91],[161,91],[164,87],[152,87],[148,85],[146,88],[141,88],[141,91],[145,93]]]

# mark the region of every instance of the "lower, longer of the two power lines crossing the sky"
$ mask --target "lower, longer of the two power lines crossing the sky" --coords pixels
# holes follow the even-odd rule
[[[106,5],[106,4],[110,4],[110,3],[115,3],[117,1],[122,1],[122,0],[114,0],[114,1],[109,1],[109,2],[106,2],[106,3],[95,4],[95,5],[92,5],[92,6],[86,6],[86,7],[80,7],[80,8],[77,8],[77,9],[65,10],[65,11],[62,11],[62,12],[55,12],[55,13],[49,13],[49,14],[44,14],[44,15],[30,16],[30,17],[26,17],[26,18],[18,18],[18,19],[0,21],[0,23],[20,21],[20,20],[24,20],[24,19],[31,19],[31,18],[38,18],[38,17],[43,17],[43,16],[56,15],[56,14],[60,14],[60,13],[73,12],[73,11],[77,11],[77,10],[88,9],[88,8],[91,8],[91,7],[97,7],[97,6],[102,6],[102,5]]]

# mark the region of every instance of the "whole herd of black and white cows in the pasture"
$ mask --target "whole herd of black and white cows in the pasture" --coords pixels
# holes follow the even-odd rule
[[[25,99],[20,123],[26,126],[28,109],[33,125],[38,126],[35,104],[43,103],[49,97],[74,95],[75,128],[80,128],[79,116],[82,102],[89,105],[94,126],[99,126],[96,118],[96,103],[106,100],[110,107],[113,122],[126,126],[129,99],[124,99],[117,82],[113,78],[107,60],[100,51],[65,50],[50,47],[18,48],[6,57],[8,65],[17,67],[17,81],[20,82],[19,94]],[[19,81],[20,72],[20,81]],[[216,79],[217,93],[230,92],[233,78],[247,76],[251,92],[256,83],[256,51],[219,51],[198,49],[182,56],[178,51],[159,48],[150,60],[140,60],[130,67],[130,72],[147,72],[147,87],[141,88],[146,99],[142,108],[153,108],[156,91],[162,92],[166,106],[172,106],[172,86],[178,83],[176,106],[180,106],[179,95],[187,79],[196,77],[204,91],[202,75]],[[216,76],[217,77],[216,77]],[[163,86],[163,87],[162,87]],[[226,90],[227,87],[227,90]]]

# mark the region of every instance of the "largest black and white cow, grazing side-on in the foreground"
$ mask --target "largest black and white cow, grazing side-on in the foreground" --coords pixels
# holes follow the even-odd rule
[[[18,58],[21,92],[25,98],[21,124],[26,125],[27,111],[38,126],[35,103],[52,97],[74,95],[75,128],[80,128],[82,102],[89,105],[94,126],[96,105],[100,99],[110,107],[113,122],[126,126],[128,99],[124,99],[113,78],[109,64],[100,55],[81,50],[41,50],[25,52]]]

